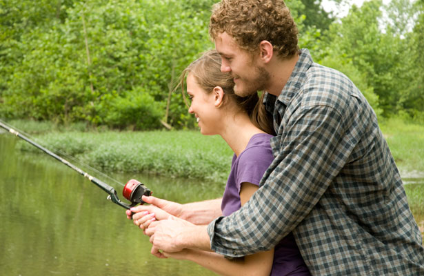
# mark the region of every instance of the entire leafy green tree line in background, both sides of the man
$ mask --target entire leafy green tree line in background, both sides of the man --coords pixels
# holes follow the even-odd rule
[[[213,48],[216,1],[0,0],[0,117],[193,128],[172,90],[181,70]],[[301,48],[350,77],[378,115],[424,118],[422,0],[367,1],[337,21],[321,1],[286,3]]]

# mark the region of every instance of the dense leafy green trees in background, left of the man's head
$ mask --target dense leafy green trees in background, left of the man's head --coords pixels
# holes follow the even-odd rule
[[[61,6],[59,18],[50,3],[44,10],[33,1],[19,3],[28,18],[17,16],[13,1],[2,3],[10,21],[1,22],[8,32],[0,70],[12,76],[0,81],[2,117],[158,128],[179,72],[212,47],[204,8],[210,1],[192,7],[174,0],[74,1]],[[46,17],[43,26],[37,16]],[[8,28],[15,18],[34,28],[17,34]],[[183,103],[178,95],[171,102],[174,123]]]

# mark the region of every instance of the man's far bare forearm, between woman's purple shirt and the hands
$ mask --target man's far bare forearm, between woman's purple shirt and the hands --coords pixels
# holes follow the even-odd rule
[[[181,219],[190,221],[192,224],[205,225],[222,215],[222,199],[211,199],[200,202],[183,204]]]

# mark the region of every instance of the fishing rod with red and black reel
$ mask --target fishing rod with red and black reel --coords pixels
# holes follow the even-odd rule
[[[12,133],[13,135],[16,135],[17,137],[23,139],[24,141],[27,141],[32,146],[39,148],[40,150],[47,153],[54,159],[61,161],[61,163],[72,168],[73,170],[76,170],[84,177],[87,177],[88,179],[90,179],[90,181],[92,181],[92,183],[96,184],[102,190],[108,193],[108,199],[110,199],[114,204],[118,204],[119,206],[122,206],[125,209],[130,209],[131,207],[136,206],[137,204],[144,204],[144,201],[141,199],[141,197],[143,197],[143,195],[147,195],[147,196],[152,195],[152,192],[148,188],[146,188],[144,184],[142,184],[140,181],[137,181],[136,179],[131,179],[130,181],[127,182],[127,184],[125,184],[122,191],[123,197],[125,197],[131,202],[131,204],[126,204],[125,202],[119,199],[117,195],[117,191],[112,186],[105,184],[103,181],[101,181],[100,179],[97,179],[96,177],[92,177],[87,172],[84,172],[77,166],[74,166],[69,161],[63,159],[59,155],[56,155],[54,152],[51,152],[47,148],[40,146],[39,144],[35,143],[34,141],[29,139],[25,135],[22,135],[21,133],[17,132],[17,130],[14,130],[10,126],[7,126],[3,121],[0,121],[0,127],[4,128],[5,130],[8,130],[8,132]]]

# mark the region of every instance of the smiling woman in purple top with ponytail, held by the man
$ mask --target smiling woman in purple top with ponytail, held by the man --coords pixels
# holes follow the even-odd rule
[[[274,135],[272,119],[267,117],[258,95],[243,98],[234,94],[233,78],[221,72],[221,57],[215,50],[205,52],[183,71],[182,87],[185,77],[191,101],[188,111],[196,117],[201,133],[221,135],[234,151],[221,202],[222,214],[228,216],[239,210],[259,188],[274,158],[270,146]],[[130,217],[130,212],[127,215]],[[132,219],[144,229],[154,219],[169,216],[157,208],[154,213],[136,213]],[[188,259],[221,275],[310,275],[291,234],[273,250],[241,259],[229,260],[216,253],[192,249],[163,254]]]

